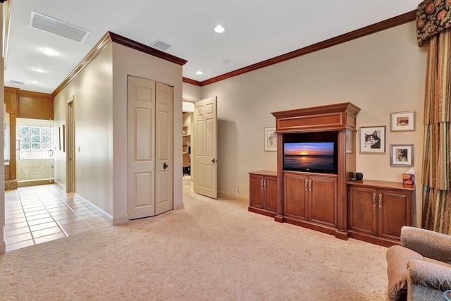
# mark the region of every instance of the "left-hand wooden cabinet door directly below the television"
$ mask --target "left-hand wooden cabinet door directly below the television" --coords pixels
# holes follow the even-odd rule
[[[283,185],[284,215],[307,220],[307,176],[285,173],[283,175]]]

